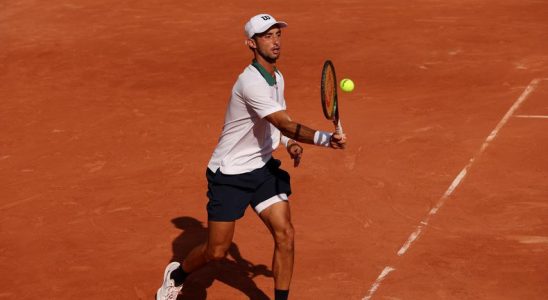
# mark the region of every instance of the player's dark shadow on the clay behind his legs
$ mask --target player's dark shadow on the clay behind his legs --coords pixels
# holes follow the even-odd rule
[[[202,222],[192,217],[178,217],[171,222],[183,231],[173,241],[173,257],[171,259],[181,262],[194,247],[207,240],[207,228]],[[272,271],[265,265],[254,265],[244,259],[238,246],[232,243],[227,258],[209,263],[187,278],[183,293],[177,299],[206,299],[207,289],[215,280],[218,280],[240,290],[249,299],[269,300],[270,298],[253,281],[253,278],[257,276],[272,277]]]

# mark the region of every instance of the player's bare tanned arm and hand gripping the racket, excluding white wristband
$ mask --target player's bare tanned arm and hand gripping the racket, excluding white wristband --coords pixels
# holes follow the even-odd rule
[[[280,110],[265,117],[265,119],[278,128],[283,135],[299,142],[316,144],[314,135],[316,130],[305,125],[293,122],[285,110]],[[344,135],[331,135],[329,146],[334,149],[344,148],[346,137]]]

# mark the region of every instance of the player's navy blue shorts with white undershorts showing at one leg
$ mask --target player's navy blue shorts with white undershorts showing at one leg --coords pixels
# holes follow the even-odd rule
[[[208,220],[234,221],[244,216],[248,205],[260,212],[269,205],[267,202],[287,200],[291,194],[289,174],[280,165],[279,160],[271,158],[260,169],[236,175],[223,174],[219,169],[213,173],[208,168]]]

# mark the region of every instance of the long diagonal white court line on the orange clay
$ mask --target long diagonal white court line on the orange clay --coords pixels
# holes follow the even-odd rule
[[[398,251],[398,256],[402,256],[404,255],[407,250],[409,249],[409,247],[411,247],[411,245],[413,244],[413,242],[415,242],[419,236],[421,235],[423,229],[428,226],[428,222],[430,221],[430,218],[432,216],[434,216],[438,211],[439,209],[443,206],[443,204],[445,204],[445,202],[447,201],[447,199],[449,198],[449,196],[451,196],[451,194],[455,191],[455,189],[460,185],[460,183],[462,182],[462,180],[466,177],[466,174],[468,173],[468,170],[472,167],[472,165],[474,164],[474,162],[483,154],[483,152],[485,151],[485,149],[487,148],[487,146],[489,146],[489,143],[491,141],[493,141],[495,139],[495,137],[497,136],[497,134],[499,133],[499,131],[501,130],[501,128],[508,122],[508,120],[510,119],[510,117],[512,117],[512,115],[514,114],[514,112],[519,108],[519,106],[525,101],[525,99],[527,99],[527,97],[529,97],[529,95],[537,88],[539,82],[543,81],[543,80],[548,80],[548,78],[537,78],[537,79],[533,79],[531,81],[531,83],[529,83],[529,85],[525,88],[525,90],[523,91],[523,93],[521,93],[521,95],[518,97],[518,99],[516,99],[516,101],[514,102],[514,104],[510,107],[510,109],[508,110],[508,112],[506,112],[506,114],[502,117],[502,119],[499,121],[499,123],[497,124],[497,126],[495,126],[495,129],[493,129],[493,131],[491,131],[491,133],[489,134],[489,136],[487,136],[487,138],[485,139],[485,141],[483,142],[483,144],[481,145],[480,149],[478,150],[478,152],[468,161],[468,163],[466,164],[466,166],[464,166],[464,168],[460,171],[460,173],[457,175],[457,177],[455,177],[455,179],[453,180],[453,182],[451,183],[451,185],[449,186],[449,188],[447,188],[447,190],[445,191],[445,193],[443,193],[443,196],[441,196],[441,198],[438,200],[438,202],[436,203],[436,205],[434,207],[432,207],[432,209],[430,209],[430,211],[428,212],[428,214],[426,215],[426,217],[424,217],[424,219],[422,219],[419,223],[419,225],[417,226],[417,228],[415,229],[415,231],[413,231],[411,233],[411,235],[409,235],[409,237],[407,238],[407,241],[405,241],[405,243],[403,244],[403,246],[400,248],[400,250]],[[390,274],[390,272],[394,271],[395,268],[391,267],[391,266],[386,266],[381,274],[377,277],[377,280],[375,280],[375,282],[373,283],[373,285],[371,286],[371,288],[369,289],[369,293],[367,294],[367,296],[365,296],[362,300],[369,300],[371,299],[371,297],[373,297],[373,294],[378,290],[378,288],[380,287],[382,281],[388,277],[388,274]]]

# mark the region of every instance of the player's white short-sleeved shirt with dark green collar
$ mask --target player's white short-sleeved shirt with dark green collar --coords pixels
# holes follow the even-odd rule
[[[261,68],[262,72],[266,71]],[[284,79],[261,74],[247,66],[232,88],[223,131],[208,168],[223,174],[242,174],[261,168],[280,144],[280,131],[265,116],[285,110]]]

